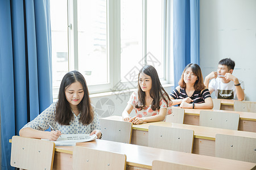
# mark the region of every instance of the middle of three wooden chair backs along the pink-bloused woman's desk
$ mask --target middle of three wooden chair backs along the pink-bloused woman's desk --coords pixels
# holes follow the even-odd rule
[[[192,153],[193,139],[193,130],[148,126],[149,147]]]

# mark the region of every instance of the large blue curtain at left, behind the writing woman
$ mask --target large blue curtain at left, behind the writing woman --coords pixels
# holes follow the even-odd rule
[[[9,139],[52,103],[49,0],[0,0],[2,169]]]

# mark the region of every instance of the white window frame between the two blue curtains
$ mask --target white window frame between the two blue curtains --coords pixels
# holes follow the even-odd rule
[[[77,31],[77,0],[68,0],[68,70],[79,70],[78,66],[78,31]],[[147,54],[147,0],[143,3],[143,49],[144,63]],[[164,56],[164,78],[160,79],[162,84],[173,84],[172,57],[172,0],[162,0],[163,7],[163,46]],[[90,94],[117,91],[115,85],[121,81],[121,3],[119,0],[106,0],[107,11],[107,56],[108,56],[108,83],[88,86]],[[169,17],[168,17],[169,16]],[[137,81],[122,82],[128,89],[136,88]],[[53,94],[54,95],[54,94]],[[56,95],[56,92],[55,92]],[[55,99],[57,96],[53,96]]]

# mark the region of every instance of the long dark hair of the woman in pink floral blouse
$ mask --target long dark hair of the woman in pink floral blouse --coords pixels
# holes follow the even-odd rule
[[[168,101],[171,101],[169,95],[162,87],[162,84],[160,83],[158,72],[155,70],[155,68],[151,65],[143,66],[142,69],[139,71],[139,75],[141,73],[144,73],[151,77],[152,80],[152,86],[150,90],[150,97],[153,99],[151,108],[153,111],[156,109],[160,109],[160,100],[161,97],[164,101],[166,101],[166,105],[168,107]],[[141,86],[139,86],[139,75],[138,75],[138,104],[135,105],[135,108],[137,109],[143,109],[146,107],[146,93],[142,91]],[[164,97],[164,94],[166,97]],[[167,99],[166,99],[167,98]]]

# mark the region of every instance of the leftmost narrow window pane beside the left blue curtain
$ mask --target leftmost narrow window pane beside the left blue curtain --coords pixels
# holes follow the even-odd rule
[[[52,93],[59,94],[63,76],[68,72],[68,14],[67,0],[50,1],[52,41]]]

